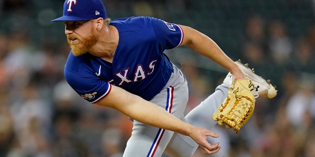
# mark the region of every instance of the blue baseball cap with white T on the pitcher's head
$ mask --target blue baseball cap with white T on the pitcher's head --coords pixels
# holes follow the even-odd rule
[[[99,17],[107,18],[102,0],[65,0],[63,16],[52,21],[87,21]]]

